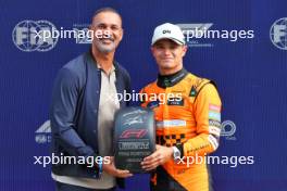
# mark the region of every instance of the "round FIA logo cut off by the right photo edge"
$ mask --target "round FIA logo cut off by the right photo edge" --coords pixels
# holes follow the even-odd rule
[[[275,47],[287,50],[287,17],[273,23],[270,29],[270,38]]]

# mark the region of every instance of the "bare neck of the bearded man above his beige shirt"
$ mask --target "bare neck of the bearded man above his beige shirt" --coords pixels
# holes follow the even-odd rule
[[[114,51],[102,53],[92,46],[91,53],[96,63],[108,74],[113,65]]]

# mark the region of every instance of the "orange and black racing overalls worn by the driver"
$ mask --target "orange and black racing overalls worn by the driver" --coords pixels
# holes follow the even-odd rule
[[[196,163],[196,157],[205,158],[219,147],[222,103],[214,82],[183,68],[174,75],[159,75],[140,93],[141,106],[154,112],[157,144],[180,151],[180,158],[152,173],[151,190],[212,190],[208,166]]]

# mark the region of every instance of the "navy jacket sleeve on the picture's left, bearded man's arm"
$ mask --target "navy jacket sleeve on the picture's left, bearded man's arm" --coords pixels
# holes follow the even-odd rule
[[[70,155],[87,157],[96,155],[95,151],[78,136],[74,123],[79,87],[79,79],[72,71],[60,69],[52,92],[50,120],[54,141]]]

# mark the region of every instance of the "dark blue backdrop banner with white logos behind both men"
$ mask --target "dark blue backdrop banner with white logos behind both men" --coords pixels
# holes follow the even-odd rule
[[[116,60],[130,73],[135,92],[157,78],[151,37],[166,22],[185,33],[185,67],[216,81],[223,113],[213,153],[220,161],[210,165],[214,190],[287,190],[285,0],[1,0],[0,190],[54,190],[51,165],[42,162],[51,155],[53,80],[89,50],[82,33],[103,7],[122,14]],[[37,38],[46,30],[53,36]],[[148,191],[149,176],[128,178],[126,190]]]

